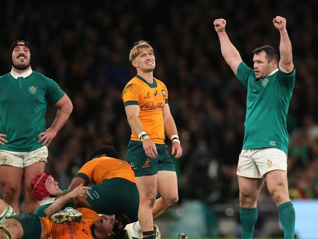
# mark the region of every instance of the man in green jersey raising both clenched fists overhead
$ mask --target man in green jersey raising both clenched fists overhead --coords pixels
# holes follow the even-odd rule
[[[286,129],[289,102],[295,86],[295,68],[286,19],[277,16],[273,24],[280,33],[279,62],[274,48],[267,45],[252,52],[254,66],[250,69],[230,42],[225,31],[226,21],[214,21],[222,55],[248,90],[245,136],[237,167],[242,239],[253,236],[257,198],[265,180],[278,207],[284,239],[294,239],[295,234],[295,209],[287,183]]]

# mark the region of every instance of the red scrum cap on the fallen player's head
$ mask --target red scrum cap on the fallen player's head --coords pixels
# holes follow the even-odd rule
[[[31,193],[39,201],[52,195],[46,188],[46,182],[50,177],[51,174],[41,173],[31,179]]]

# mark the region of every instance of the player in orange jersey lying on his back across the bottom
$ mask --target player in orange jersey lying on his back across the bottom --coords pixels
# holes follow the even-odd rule
[[[51,215],[60,211],[69,200],[76,197],[87,197],[90,188],[79,186],[73,191],[56,199],[45,213]],[[8,205],[0,199],[0,212]],[[9,217],[0,224],[0,239],[123,239],[123,228],[129,222],[125,215],[98,215],[91,209],[78,208],[83,215],[81,222],[69,221],[67,224],[56,224],[47,217],[34,214],[19,214]]]

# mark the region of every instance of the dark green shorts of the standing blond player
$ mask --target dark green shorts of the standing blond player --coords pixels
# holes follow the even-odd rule
[[[130,140],[127,148],[127,159],[134,170],[135,177],[157,174],[158,171],[176,171],[167,144],[156,143],[158,156],[150,159],[140,141]]]

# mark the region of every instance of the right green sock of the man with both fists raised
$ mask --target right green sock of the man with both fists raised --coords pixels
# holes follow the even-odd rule
[[[292,202],[285,202],[278,207],[279,221],[284,230],[284,239],[295,237],[295,209]]]

